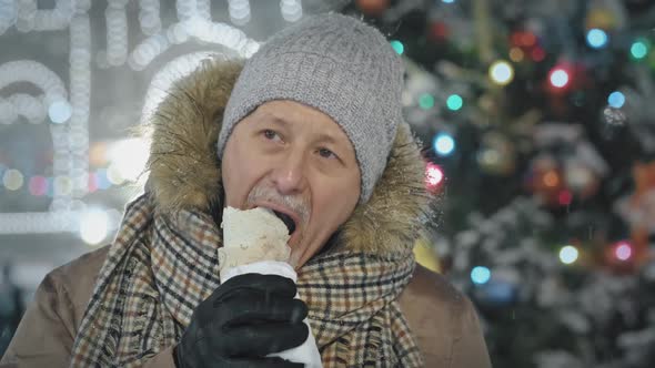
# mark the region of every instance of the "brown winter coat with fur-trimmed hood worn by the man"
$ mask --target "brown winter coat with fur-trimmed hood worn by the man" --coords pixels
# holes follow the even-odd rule
[[[149,190],[158,211],[209,209],[220,202],[215,142],[223,108],[240,63],[208,61],[182,79],[152,116]],[[183,152],[184,154],[175,154]],[[170,154],[172,153],[172,154]],[[399,130],[384,175],[373,196],[344,226],[339,247],[389,252],[411,246],[427,198],[423,165],[407,130]],[[108,247],[51,272],[39,286],[0,368],[67,367],[71,348]],[[401,308],[427,367],[491,367],[471,301],[440,275],[421,266],[400,297]],[[171,348],[147,367],[172,367]]]

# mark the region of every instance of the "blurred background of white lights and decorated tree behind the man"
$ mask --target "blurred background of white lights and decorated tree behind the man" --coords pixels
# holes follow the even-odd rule
[[[415,254],[494,366],[655,366],[649,0],[0,0],[0,354],[42,277],[112,241],[168,83],[325,11],[405,62],[439,198]]]

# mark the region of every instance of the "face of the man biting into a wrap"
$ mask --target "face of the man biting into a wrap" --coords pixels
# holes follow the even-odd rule
[[[360,167],[345,133],[326,114],[286,100],[260,105],[234,126],[222,177],[226,206],[283,214],[295,268],[323,247],[360,197]]]

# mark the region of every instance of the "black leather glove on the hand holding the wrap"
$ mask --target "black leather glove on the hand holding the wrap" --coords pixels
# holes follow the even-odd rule
[[[306,305],[282,276],[244,274],[230,278],[202,301],[173,356],[179,368],[303,367],[268,354],[304,343]]]

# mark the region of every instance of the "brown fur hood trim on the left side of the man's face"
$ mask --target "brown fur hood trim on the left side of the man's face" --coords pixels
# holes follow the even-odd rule
[[[241,68],[242,62],[203,60],[152,114],[148,187],[157,211],[221,207],[216,140]]]

